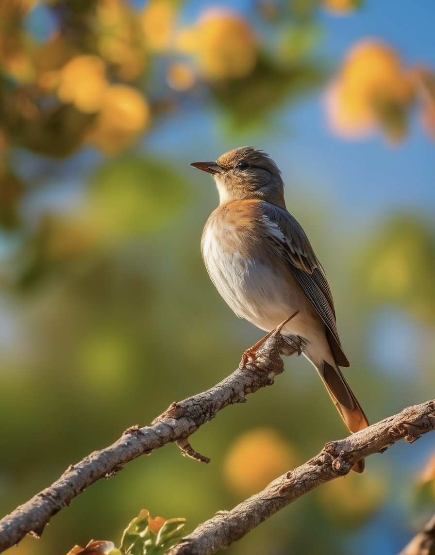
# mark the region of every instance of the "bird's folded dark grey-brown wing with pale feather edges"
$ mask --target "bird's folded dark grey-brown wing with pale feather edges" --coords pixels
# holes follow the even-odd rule
[[[268,238],[317,310],[327,329],[329,345],[339,366],[349,366],[338,338],[334,301],[324,270],[301,225],[285,208],[263,202]]]

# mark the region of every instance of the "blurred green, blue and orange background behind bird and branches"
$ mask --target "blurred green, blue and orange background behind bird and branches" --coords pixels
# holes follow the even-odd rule
[[[0,509],[214,385],[261,331],[199,252],[189,168],[243,144],[282,169],[369,420],[435,391],[433,0],[0,3]],[[303,357],[192,437],[129,463],[17,555],[189,529],[346,435]],[[434,512],[434,437],[300,499],[234,555],[397,553]]]

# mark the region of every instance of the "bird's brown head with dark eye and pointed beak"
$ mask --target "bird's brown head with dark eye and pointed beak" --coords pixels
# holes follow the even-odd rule
[[[213,174],[221,204],[258,199],[285,206],[281,172],[263,150],[239,147],[222,154],[216,162],[190,165]]]

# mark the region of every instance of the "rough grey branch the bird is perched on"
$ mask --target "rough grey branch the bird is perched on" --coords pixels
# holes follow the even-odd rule
[[[51,517],[85,488],[101,478],[116,475],[127,462],[149,455],[166,443],[177,442],[183,455],[209,462],[208,457],[193,450],[189,436],[212,420],[218,411],[245,402],[249,393],[272,385],[274,377],[284,370],[280,346],[283,346],[281,335],[272,334],[258,350],[256,364],[249,362],[211,389],[172,403],[151,426],[128,428],[111,446],[94,451],[71,465],[51,486],[0,521],[0,552],[16,545],[26,534],[38,538]]]

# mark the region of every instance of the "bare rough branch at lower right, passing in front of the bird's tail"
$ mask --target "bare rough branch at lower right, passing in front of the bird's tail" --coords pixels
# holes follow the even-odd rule
[[[405,408],[344,440],[327,443],[311,461],[280,476],[231,511],[219,512],[183,538],[167,555],[209,555],[241,539],[288,504],[323,483],[344,476],[361,458],[396,441],[416,441],[435,428],[435,400]],[[433,532],[433,531],[432,531]],[[408,553],[408,552],[406,552]],[[411,552],[409,552],[411,553]],[[414,552],[412,552],[414,553]],[[426,552],[417,552],[423,555]]]

